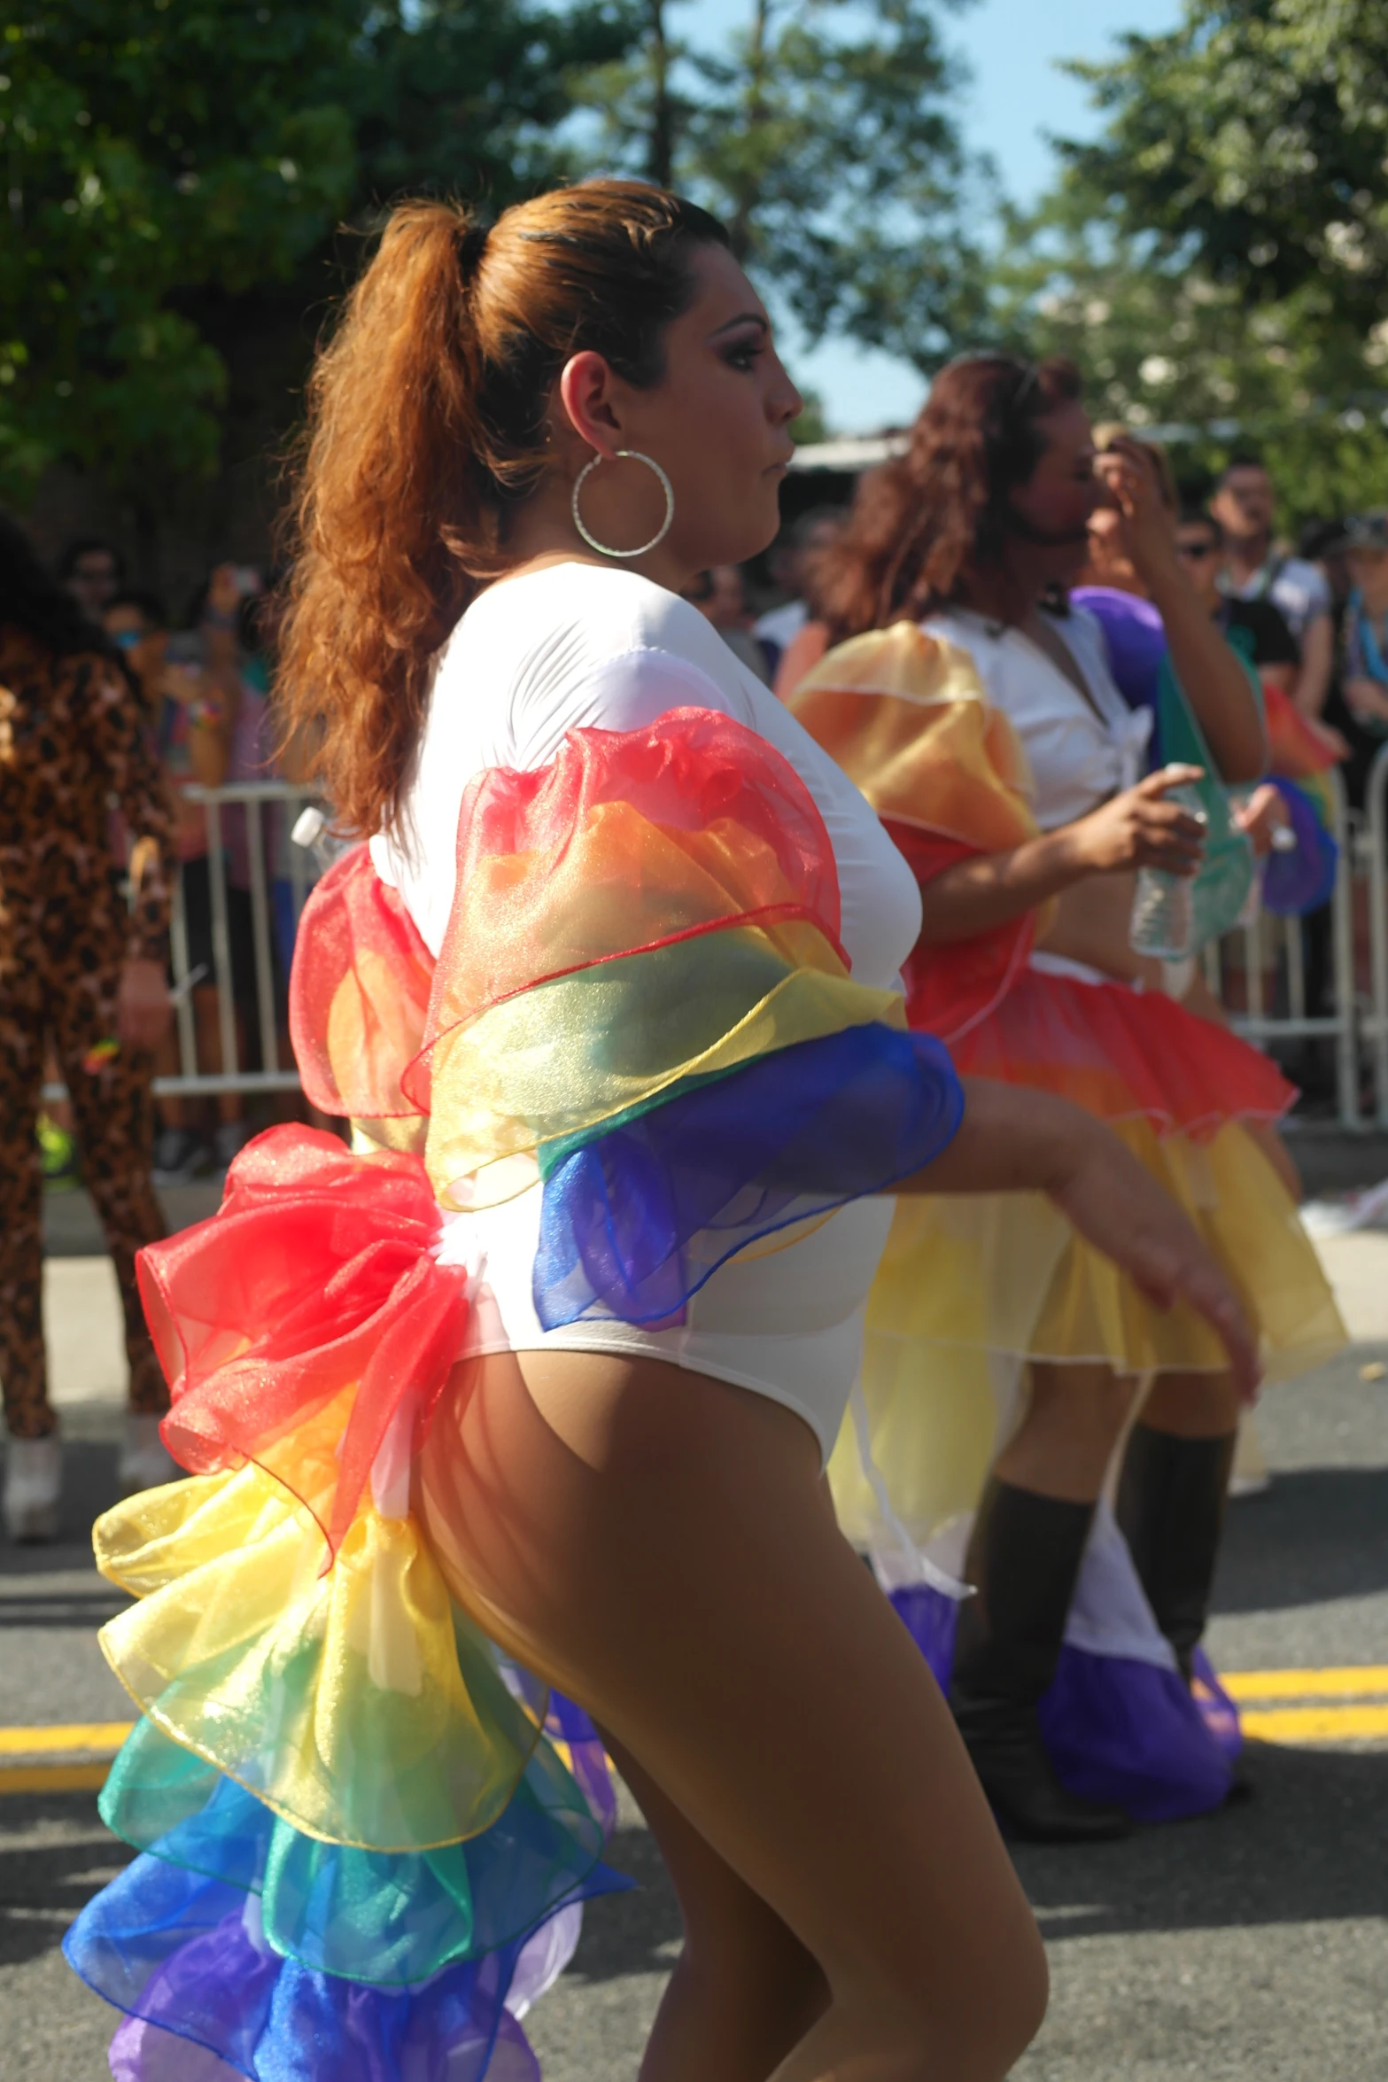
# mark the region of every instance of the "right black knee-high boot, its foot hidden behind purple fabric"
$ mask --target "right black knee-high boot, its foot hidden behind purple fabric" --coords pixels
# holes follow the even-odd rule
[[[1176,1439],[1134,1424],[1117,1482],[1120,1530],[1186,1684],[1209,1616],[1236,1443],[1238,1432]]]

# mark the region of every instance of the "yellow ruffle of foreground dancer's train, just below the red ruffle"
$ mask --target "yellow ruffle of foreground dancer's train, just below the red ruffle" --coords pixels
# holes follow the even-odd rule
[[[516,1697],[412,1518],[358,1512],[331,1572],[310,1512],[256,1466],[146,1491],[96,1524],[142,1603],[102,1628],[150,1720],[293,1828],[425,1851],[508,1805],[547,1695]]]

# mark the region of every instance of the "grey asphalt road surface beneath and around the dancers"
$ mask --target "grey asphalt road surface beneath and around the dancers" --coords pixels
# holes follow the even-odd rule
[[[1274,1484],[1232,1507],[1211,1632],[1222,1668],[1388,1664],[1388,1374],[1361,1378],[1373,1362],[1388,1362],[1388,1343],[1265,1397]],[[112,1495],[117,1412],[69,1403],[67,1426],[67,1545],[0,1547],[10,1726],[129,1713],[94,1639],[119,1595],[85,1547]],[[1053,1972],[1051,2013],[1018,2082],[1388,2076],[1388,1743],[1253,1745],[1251,1774],[1255,1799],[1213,1820],[1018,1855]],[[73,1980],[58,1940],[123,1859],[89,1793],[0,1797],[4,2082],[108,2074],[114,2015]],[[631,1803],[614,1863],[639,1893],[589,1907],[572,1967],[526,2020],[545,2082],[633,2082],[678,1949]]]

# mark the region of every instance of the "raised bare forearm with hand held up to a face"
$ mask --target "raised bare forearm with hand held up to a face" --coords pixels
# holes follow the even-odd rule
[[[1257,695],[1234,650],[1201,604],[1176,556],[1151,458],[1115,439],[1099,475],[1122,514],[1124,548],[1165,629],[1172,666],[1205,733],[1219,779],[1234,785],[1267,772],[1267,735]]]

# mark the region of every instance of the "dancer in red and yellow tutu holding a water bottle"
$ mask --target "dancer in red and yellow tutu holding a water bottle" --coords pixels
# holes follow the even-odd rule
[[[1134,460],[1105,464],[1132,475]],[[909,454],[859,493],[822,577],[847,641],[791,708],[920,881],[911,1026],[966,1072],[1109,1122],[1238,1287],[1267,1370],[1292,1372],[1342,1339],[1263,1141],[1292,1091],[1180,1006],[1190,962],[1130,947],[1134,870],[1194,874],[1203,829],[1169,799],[1197,768],[1142,779],[1151,718],[1057,591],[1105,496],[1068,364],[953,362]],[[1142,518],[1126,527],[1174,664],[1224,779],[1253,779],[1249,681],[1169,527]],[[1238,1405],[1203,1324],[1155,1310],[1038,1195],[911,1199],[868,1303],[862,1389],[866,1424],[832,1466],[841,1516],[884,1568],[895,1518],[976,1584],[953,1645],[936,1593],[899,1603],[999,1813],[1080,1838],[1224,1799],[1236,1716],[1199,1643]],[[1099,1497],[1138,1397],[1124,1547]]]

